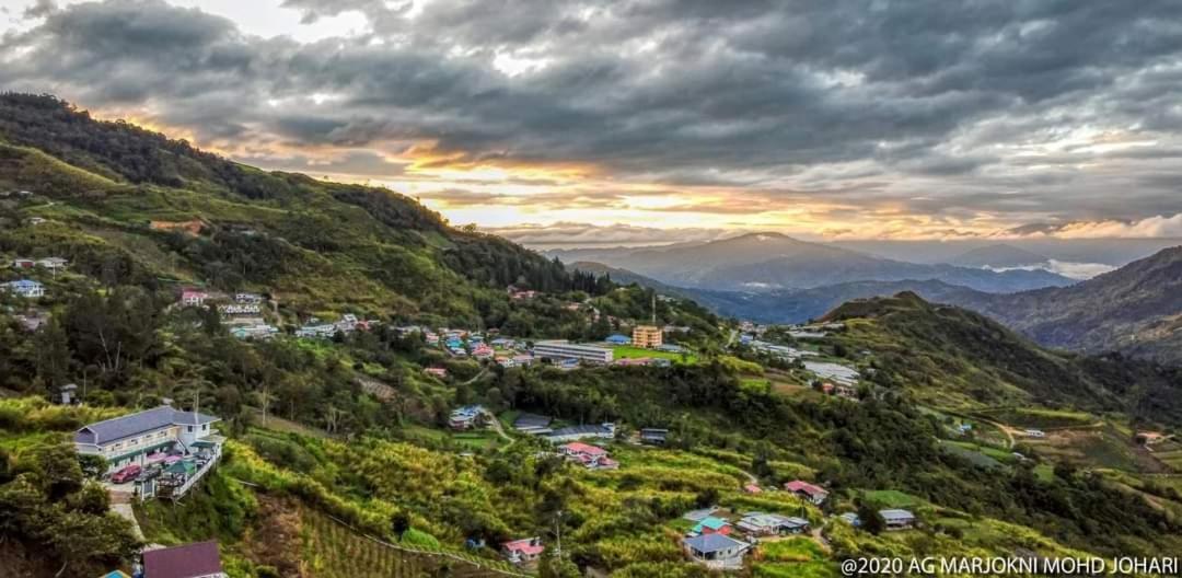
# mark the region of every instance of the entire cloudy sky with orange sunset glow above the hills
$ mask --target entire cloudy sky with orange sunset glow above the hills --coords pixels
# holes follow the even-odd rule
[[[0,0],[0,89],[519,236],[1182,236],[1176,0]]]

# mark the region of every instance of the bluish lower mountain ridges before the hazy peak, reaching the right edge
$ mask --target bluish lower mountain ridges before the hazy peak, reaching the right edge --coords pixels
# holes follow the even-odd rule
[[[1087,353],[1119,351],[1182,363],[1182,246],[1066,287],[987,293],[941,280],[850,281],[765,292],[670,287],[628,269],[579,262],[707,305],[723,316],[761,323],[805,323],[855,299],[914,292],[924,299],[981,312],[1041,345]]]

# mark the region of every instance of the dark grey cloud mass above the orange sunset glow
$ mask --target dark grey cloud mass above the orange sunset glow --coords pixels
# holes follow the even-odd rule
[[[0,44],[0,85],[141,106],[215,143],[430,142],[428,163],[585,163],[818,197],[871,180],[868,203],[933,214],[1182,210],[1168,194],[1182,169],[1154,154],[1182,147],[1177,1],[285,5],[306,21],[361,12],[371,30],[298,44],[158,0],[41,2],[44,22]],[[525,64],[506,73],[506,59]],[[1157,144],[1018,154],[1080,126]],[[1138,190],[1117,203],[1110,187]]]

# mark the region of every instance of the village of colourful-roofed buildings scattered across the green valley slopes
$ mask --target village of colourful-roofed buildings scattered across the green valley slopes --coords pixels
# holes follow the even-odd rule
[[[69,261],[61,258],[12,260],[12,268],[30,277],[48,275],[52,280],[69,269]],[[11,292],[31,304],[48,297],[46,286],[33,279],[22,278],[4,285]],[[366,319],[344,312],[332,320],[307,317],[303,324],[281,329],[277,316],[277,300],[264,292],[221,293],[196,286],[180,287],[173,307],[177,311],[199,310],[216,312],[225,330],[242,340],[269,340],[292,338],[311,342],[332,342],[356,332],[372,331],[382,325],[377,319]],[[508,288],[512,300],[539,298],[538,292]],[[571,304],[571,307],[585,307]],[[598,312],[592,312],[598,316]],[[19,319],[30,331],[50,318],[46,307],[30,306],[19,312]],[[655,304],[652,319],[648,323],[611,319],[624,331],[615,332],[600,342],[577,343],[565,339],[522,339],[502,335],[496,329],[473,330],[427,326],[417,324],[391,327],[404,338],[421,339],[446,358],[470,359],[481,365],[500,368],[528,368],[535,364],[563,371],[596,366],[651,366],[671,368],[675,364],[693,364],[693,349],[676,342],[684,337],[689,327],[661,325],[656,323]],[[830,332],[842,331],[840,324],[820,324],[787,327],[795,342],[781,345],[765,340],[768,327],[743,322],[738,327],[738,345],[749,348],[758,355],[782,359],[813,376],[818,391],[826,395],[858,401],[857,387],[860,374],[857,369],[832,359],[807,345],[811,340],[824,339]],[[625,332],[626,331],[626,332]],[[449,382],[452,376],[442,365],[428,365],[422,371],[435,379]],[[379,384],[381,385],[381,384]],[[384,387],[383,387],[384,388]],[[77,403],[78,387],[60,388],[59,402]],[[216,467],[223,455],[227,437],[220,434],[219,417],[200,411],[200,401],[194,400],[190,410],[182,410],[171,400],[157,408],[126,416],[91,423],[74,435],[74,446],[82,456],[99,456],[105,470],[104,486],[111,495],[116,512],[135,521],[131,502],[164,500],[177,502],[195,488]],[[505,434],[501,420],[508,418]],[[552,416],[514,413],[498,416],[480,404],[461,405],[450,411],[447,426],[456,433],[470,433],[498,428],[502,436],[537,439],[552,448],[547,454],[559,456],[572,467],[587,475],[626,469],[626,465],[612,456],[612,448],[664,447],[670,430],[651,424],[572,423]],[[709,506],[686,512],[675,524],[681,531],[680,547],[688,560],[712,570],[740,570],[748,557],[761,545],[785,537],[803,537],[827,547],[821,528],[826,521],[859,527],[862,520],[855,512],[830,512],[829,492],[810,481],[794,480],[782,486],[761,486],[754,479],[740,485],[739,491],[748,495],[782,494],[795,500],[794,513],[764,512],[758,509],[734,509]],[[785,498],[781,498],[781,502]],[[904,531],[918,526],[917,518],[902,508],[886,508],[878,513],[886,531]],[[522,569],[535,569],[546,550],[546,539],[540,535],[522,537],[500,545],[505,560]],[[184,560],[201,559],[199,566],[206,573],[193,574],[168,570],[175,564],[170,558]],[[187,563],[188,564],[188,563]],[[173,548],[151,547],[144,550],[136,577],[187,578],[196,576],[222,576],[217,561],[216,543],[197,543]],[[119,576],[112,573],[111,576]]]

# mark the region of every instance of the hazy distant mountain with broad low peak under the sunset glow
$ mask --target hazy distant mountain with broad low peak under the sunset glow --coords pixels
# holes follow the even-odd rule
[[[657,281],[695,290],[766,292],[851,281],[940,280],[991,293],[1067,286],[1043,269],[989,271],[884,259],[778,233],[650,248],[552,251],[564,261],[598,261]]]

